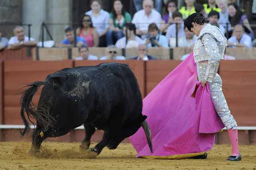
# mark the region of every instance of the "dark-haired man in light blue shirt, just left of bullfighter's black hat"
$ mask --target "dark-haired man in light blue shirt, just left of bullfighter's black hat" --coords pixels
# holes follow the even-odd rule
[[[170,38],[176,37],[176,24],[178,27],[178,38],[186,37],[184,32],[184,23],[182,20],[182,15],[180,12],[174,12],[172,14],[172,18],[175,24],[172,24],[168,27],[166,38],[169,40]]]

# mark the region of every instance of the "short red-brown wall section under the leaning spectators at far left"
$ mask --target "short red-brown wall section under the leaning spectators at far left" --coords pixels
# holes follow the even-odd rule
[[[4,49],[0,51],[0,59],[6,60],[33,60],[35,48],[24,47],[21,49],[10,50]]]

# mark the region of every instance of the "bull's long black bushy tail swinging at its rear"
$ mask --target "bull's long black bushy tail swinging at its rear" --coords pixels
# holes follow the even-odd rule
[[[28,84],[25,87],[28,87],[24,92],[22,92],[22,97],[20,99],[21,102],[21,110],[20,115],[22,117],[22,120],[25,125],[25,129],[22,132],[20,130],[20,134],[24,136],[28,131],[30,131],[30,125],[28,123],[28,120],[35,125],[35,123],[31,120],[31,118],[36,119],[36,121],[39,123],[40,127],[43,130],[47,130],[50,125],[51,117],[48,114],[48,109],[45,109],[40,106],[35,106],[32,102],[32,98],[34,94],[38,91],[40,86],[45,85],[46,82],[39,82],[36,81],[34,83]],[[24,111],[26,112],[26,115],[28,117],[28,120],[26,119],[26,116],[24,115]]]

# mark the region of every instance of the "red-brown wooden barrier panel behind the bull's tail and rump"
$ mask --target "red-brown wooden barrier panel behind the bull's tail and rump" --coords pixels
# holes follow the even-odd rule
[[[44,81],[48,74],[66,67],[73,61],[6,61],[4,63],[4,123],[23,124],[20,118],[20,97],[17,91],[36,80]],[[38,101],[40,92],[34,99]],[[35,102],[37,103],[37,102]]]

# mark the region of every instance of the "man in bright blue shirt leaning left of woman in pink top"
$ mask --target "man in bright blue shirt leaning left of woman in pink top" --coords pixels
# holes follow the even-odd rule
[[[67,27],[65,29],[66,39],[61,41],[61,44],[58,45],[59,47],[70,47],[75,45],[75,35],[74,29],[71,27]],[[86,45],[86,41],[83,37],[76,36],[76,46],[80,47],[81,45]]]

